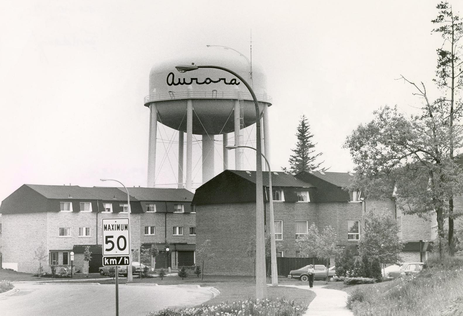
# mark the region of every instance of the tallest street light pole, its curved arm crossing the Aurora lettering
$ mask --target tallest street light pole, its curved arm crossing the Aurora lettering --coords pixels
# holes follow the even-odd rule
[[[184,73],[198,68],[213,68],[224,70],[233,74],[241,82],[252,95],[254,105],[256,107],[256,298],[262,299],[267,297],[267,282],[265,277],[265,236],[264,236],[264,211],[263,211],[263,184],[262,184],[262,148],[261,148],[261,129],[260,129],[260,110],[259,102],[256,94],[247,81],[244,80],[236,72],[219,66],[197,66],[194,63],[191,65],[179,65],[175,67],[179,72]]]

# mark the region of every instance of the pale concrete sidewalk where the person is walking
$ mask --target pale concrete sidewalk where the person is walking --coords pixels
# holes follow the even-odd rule
[[[324,289],[322,285],[279,285],[297,287],[315,292],[317,295],[309,304],[304,316],[353,316],[346,307],[347,293],[344,291]]]

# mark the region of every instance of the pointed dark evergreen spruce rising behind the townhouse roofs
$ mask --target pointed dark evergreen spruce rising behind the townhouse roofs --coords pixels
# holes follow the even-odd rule
[[[326,168],[320,168],[324,161],[316,161],[322,153],[315,154],[314,147],[316,144],[312,143],[313,135],[310,133],[310,124],[305,115],[300,118],[296,137],[296,148],[291,149],[294,155],[289,157],[289,172],[296,174],[302,171],[325,171]],[[283,168],[283,170],[286,171],[286,168]]]

